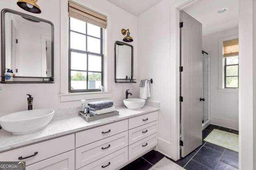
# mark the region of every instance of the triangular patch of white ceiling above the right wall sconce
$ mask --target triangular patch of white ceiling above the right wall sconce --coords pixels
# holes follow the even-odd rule
[[[134,16],[139,16],[162,0],[107,0]]]

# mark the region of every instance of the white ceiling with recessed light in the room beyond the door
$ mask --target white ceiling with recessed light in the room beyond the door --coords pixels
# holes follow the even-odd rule
[[[217,14],[222,8],[228,10]],[[200,0],[184,11],[202,23],[203,36],[238,27],[238,0]]]

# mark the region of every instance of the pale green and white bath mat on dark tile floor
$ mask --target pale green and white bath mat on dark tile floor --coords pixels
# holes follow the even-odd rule
[[[234,133],[213,129],[204,141],[238,152],[238,137]]]

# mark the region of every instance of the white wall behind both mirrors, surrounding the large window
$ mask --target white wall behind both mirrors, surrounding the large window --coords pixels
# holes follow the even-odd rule
[[[27,96],[32,94],[34,97],[34,109],[39,108],[68,108],[79,107],[80,102],[60,102],[60,1],[62,0],[40,0],[37,4],[40,6],[41,14],[32,14],[22,10],[17,6],[16,0],[0,0],[0,10],[9,8],[22,13],[33,15],[52,21],[54,24],[54,77],[55,84],[0,84],[3,90],[0,91],[0,116],[12,113],[15,111],[22,111],[27,109]],[[130,29],[131,36],[134,41],[130,43],[134,46],[134,78],[137,78],[137,18],[128,12],[114,6],[106,0],[84,0],[97,8],[106,10],[112,15],[112,35],[111,49],[112,64],[111,77],[109,80],[112,84],[112,98],[111,100],[120,101],[125,98],[125,90],[130,89],[133,94],[132,97],[138,98],[139,85],[134,84],[115,84],[114,83],[114,42],[122,41],[124,35],[121,34],[121,29]],[[50,4],[50,5],[49,5]]]

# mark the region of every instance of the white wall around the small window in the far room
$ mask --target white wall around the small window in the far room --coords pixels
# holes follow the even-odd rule
[[[238,130],[238,93],[218,91],[218,39],[238,34],[238,27],[206,35],[203,50],[211,53],[211,124]]]

